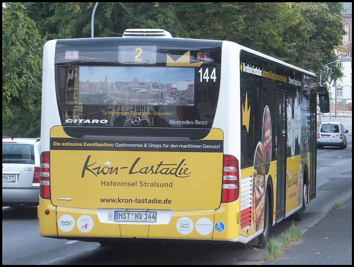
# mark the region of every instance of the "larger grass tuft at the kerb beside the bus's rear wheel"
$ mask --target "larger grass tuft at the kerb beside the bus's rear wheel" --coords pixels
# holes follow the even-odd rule
[[[270,238],[268,240],[267,249],[269,253],[265,255],[263,259],[279,258],[284,249],[287,249],[299,241],[301,241],[301,232],[295,227],[294,222],[292,222],[290,228],[287,229],[285,233],[281,233],[280,238]]]

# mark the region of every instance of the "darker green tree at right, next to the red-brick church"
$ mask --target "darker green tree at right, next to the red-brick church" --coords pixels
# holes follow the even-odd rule
[[[296,62],[299,66],[313,71],[320,76],[322,83],[342,77],[340,67],[332,64],[330,72],[324,65],[338,59],[336,51],[343,44],[343,35],[346,33],[342,23],[341,11],[343,4],[340,2],[298,2],[292,6],[300,9],[300,15],[306,21],[306,39],[297,45],[298,53]]]

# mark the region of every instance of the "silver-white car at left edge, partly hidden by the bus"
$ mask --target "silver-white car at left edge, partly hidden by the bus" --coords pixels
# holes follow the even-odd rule
[[[2,137],[2,206],[39,204],[40,138]]]

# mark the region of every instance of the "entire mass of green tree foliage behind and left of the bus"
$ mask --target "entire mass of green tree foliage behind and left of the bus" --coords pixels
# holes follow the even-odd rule
[[[4,122],[20,111],[32,119],[39,112],[43,42],[90,38],[92,30],[94,37],[120,37],[129,28],[159,28],[173,37],[235,41],[322,73],[322,81],[342,76],[335,64],[324,68],[337,59],[335,51],[342,46],[340,2],[99,2],[91,29],[95,4],[22,2],[3,7],[3,115],[8,116],[5,121],[3,116],[3,133]]]

